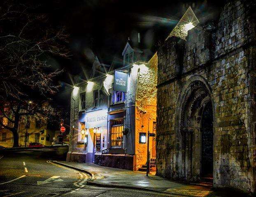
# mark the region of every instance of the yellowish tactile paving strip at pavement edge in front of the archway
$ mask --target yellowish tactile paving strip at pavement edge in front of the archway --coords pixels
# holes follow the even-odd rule
[[[186,190],[186,189],[177,189],[177,188],[170,188],[165,190],[165,192],[169,192],[171,194],[180,194],[180,195],[187,195],[193,197],[206,197],[209,195],[211,191],[208,190]]]

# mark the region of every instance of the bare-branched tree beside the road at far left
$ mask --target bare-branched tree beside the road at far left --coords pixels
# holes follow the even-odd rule
[[[63,26],[51,25],[40,6],[7,0],[0,7],[0,126],[12,131],[19,146],[19,121],[44,119],[54,113],[45,105],[58,90],[49,58],[69,58],[68,35]]]

